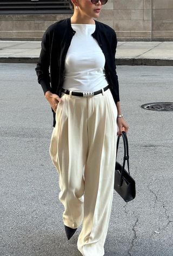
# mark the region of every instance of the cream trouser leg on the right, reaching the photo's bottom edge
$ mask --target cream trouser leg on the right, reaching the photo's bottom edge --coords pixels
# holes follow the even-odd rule
[[[84,256],[102,256],[114,193],[117,108],[109,90],[88,103],[84,220],[77,247]]]

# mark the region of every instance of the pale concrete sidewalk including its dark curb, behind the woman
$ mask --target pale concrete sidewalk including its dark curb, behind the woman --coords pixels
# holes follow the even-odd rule
[[[41,41],[0,41],[0,62],[36,63]],[[173,66],[173,42],[118,42],[117,65]]]

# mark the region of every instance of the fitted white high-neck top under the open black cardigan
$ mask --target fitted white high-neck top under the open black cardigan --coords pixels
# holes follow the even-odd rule
[[[65,57],[63,88],[72,91],[98,91],[109,83],[105,77],[105,56],[91,36],[95,24],[71,24],[76,31]]]

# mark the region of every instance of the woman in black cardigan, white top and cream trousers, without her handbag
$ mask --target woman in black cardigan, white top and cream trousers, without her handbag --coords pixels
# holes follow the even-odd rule
[[[54,117],[50,157],[59,174],[66,236],[83,224],[77,248],[84,256],[104,255],[116,136],[129,129],[119,103],[116,33],[94,20],[107,1],[71,0],[74,14],[45,31],[36,67]]]

